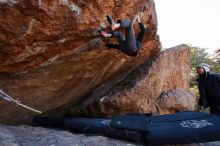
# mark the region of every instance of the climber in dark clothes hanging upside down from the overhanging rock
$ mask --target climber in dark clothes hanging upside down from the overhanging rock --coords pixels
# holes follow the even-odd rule
[[[107,21],[111,26],[111,32],[106,33],[105,31],[100,30],[100,35],[105,38],[117,38],[119,44],[106,44],[105,46],[108,48],[120,49],[129,56],[136,56],[140,52],[141,43],[145,34],[144,24],[141,23],[140,17],[136,15],[133,22],[131,22],[129,19],[121,19],[117,20],[117,23],[115,23],[112,17],[107,15]],[[133,24],[136,21],[138,21],[141,29],[141,32],[139,33],[137,38],[135,38],[135,32],[133,29]],[[125,29],[125,36],[121,31],[115,31],[118,28]]]

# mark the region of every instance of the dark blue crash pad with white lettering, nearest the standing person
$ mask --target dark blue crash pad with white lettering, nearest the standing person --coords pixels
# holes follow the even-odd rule
[[[145,133],[147,144],[173,145],[220,140],[220,116],[187,112],[182,114],[181,119],[177,115],[151,117]]]

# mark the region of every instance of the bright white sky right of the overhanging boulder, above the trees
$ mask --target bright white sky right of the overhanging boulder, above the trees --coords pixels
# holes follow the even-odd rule
[[[220,48],[220,0],[154,0],[163,48]]]

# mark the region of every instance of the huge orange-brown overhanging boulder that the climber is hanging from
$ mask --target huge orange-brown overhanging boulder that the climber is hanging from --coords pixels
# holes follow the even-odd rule
[[[147,26],[140,54],[106,49],[108,40],[96,36],[105,16],[133,19],[138,13]],[[0,1],[0,89],[45,114],[77,103],[160,49],[153,0]],[[27,123],[36,114],[0,100],[1,123]]]

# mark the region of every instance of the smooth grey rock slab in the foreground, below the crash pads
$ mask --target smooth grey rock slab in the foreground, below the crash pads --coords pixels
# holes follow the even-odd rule
[[[85,136],[68,131],[30,126],[0,125],[1,146],[135,146],[103,136]]]

